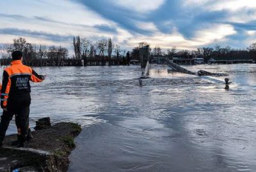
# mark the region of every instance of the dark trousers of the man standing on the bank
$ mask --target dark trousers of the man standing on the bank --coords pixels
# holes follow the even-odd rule
[[[0,141],[4,140],[10,121],[15,115],[15,124],[18,130],[19,141],[26,140],[29,125],[30,94],[19,96],[15,99],[8,99],[7,111],[3,111],[0,122]]]

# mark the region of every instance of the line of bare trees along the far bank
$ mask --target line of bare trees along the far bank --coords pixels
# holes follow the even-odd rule
[[[87,38],[74,36],[72,48],[74,55],[68,54],[68,48],[61,46],[45,46],[33,45],[28,43],[25,38],[15,38],[10,45],[0,46],[1,62],[9,62],[13,50],[20,50],[23,53],[24,64],[29,66],[42,66],[42,63],[47,61],[50,65],[61,66],[61,62],[65,60],[74,60],[86,62],[100,62],[97,64],[106,65],[129,65],[131,59],[140,61],[140,48],[149,47],[150,57],[180,57],[182,59],[193,59],[196,57],[204,58],[208,62],[211,58],[239,57],[241,59],[256,59],[256,43],[253,43],[246,49],[234,49],[229,46],[220,47],[199,47],[197,50],[178,50],[175,47],[167,49],[156,46],[150,47],[147,42],[141,42],[138,46],[132,48],[131,54],[129,51],[120,48],[111,38],[99,39],[98,41],[90,41]]]

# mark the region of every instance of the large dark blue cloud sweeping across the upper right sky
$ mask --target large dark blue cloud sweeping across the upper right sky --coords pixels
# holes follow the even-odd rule
[[[255,9],[240,9],[237,13],[229,10],[207,10],[204,6],[184,6],[184,1],[172,0],[165,1],[157,10],[148,13],[137,13],[133,9],[122,8],[115,6],[111,1],[87,1],[87,0],[73,0],[84,6],[96,11],[102,17],[116,22],[120,27],[131,31],[133,34],[144,34],[150,36],[152,31],[145,31],[138,28],[136,22],[153,22],[159,31],[170,34],[177,29],[186,39],[193,39],[195,32],[202,29],[209,29],[212,24],[230,24],[234,27],[244,27],[244,29],[255,29],[253,25],[239,25],[234,23],[227,23],[226,20],[232,15],[239,15],[239,13],[246,13],[247,15],[255,14]],[[206,3],[207,6],[221,2],[220,0],[212,0]],[[246,28],[245,28],[246,27]]]

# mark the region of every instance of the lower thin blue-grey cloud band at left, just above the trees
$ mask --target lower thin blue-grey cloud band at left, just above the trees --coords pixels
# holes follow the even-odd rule
[[[10,34],[15,36],[31,36],[33,38],[43,38],[48,39],[55,42],[63,42],[63,41],[72,41],[73,36],[71,35],[60,35],[60,34],[51,34],[42,31],[30,31],[26,29],[17,29],[17,28],[3,28],[0,29],[0,34]]]

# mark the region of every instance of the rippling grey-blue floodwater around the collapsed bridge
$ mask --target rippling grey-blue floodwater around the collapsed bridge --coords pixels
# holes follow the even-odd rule
[[[31,125],[83,126],[68,171],[256,171],[256,65],[185,68],[229,76],[153,65],[140,87],[140,66],[35,68],[47,80],[32,84]]]

